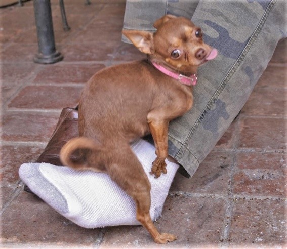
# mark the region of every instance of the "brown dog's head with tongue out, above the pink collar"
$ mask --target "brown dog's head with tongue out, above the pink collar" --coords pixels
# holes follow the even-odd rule
[[[201,29],[187,18],[165,15],[155,21],[154,27],[155,33],[122,33],[151,61],[183,73],[195,73],[198,66],[217,56],[217,50],[203,42]]]

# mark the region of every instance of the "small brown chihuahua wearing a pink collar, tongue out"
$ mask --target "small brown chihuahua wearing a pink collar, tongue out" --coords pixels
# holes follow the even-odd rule
[[[151,186],[130,143],[151,133],[157,155],[151,174],[167,173],[169,122],[191,108],[197,68],[217,50],[186,18],[166,15],[154,27],[155,33],[123,31],[147,60],[105,68],[87,82],[79,102],[80,137],[68,141],[60,156],[74,169],[109,174],[135,200],[137,219],[154,241],[167,243],[177,237],[153,225]],[[76,152],[80,161],[73,159]]]

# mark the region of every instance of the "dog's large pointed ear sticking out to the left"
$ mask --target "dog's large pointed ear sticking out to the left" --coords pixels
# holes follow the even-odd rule
[[[127,36],[142,53],[153,54],[153,33],[139,30],[122,30],[122,34]]]

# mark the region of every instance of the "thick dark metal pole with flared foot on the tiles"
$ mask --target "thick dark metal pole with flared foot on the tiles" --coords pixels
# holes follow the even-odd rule
[[[63,56],[56,50],[50,0],[33,0],[38,37],[38,53],[34,62],[50,64],[61,61]]]

